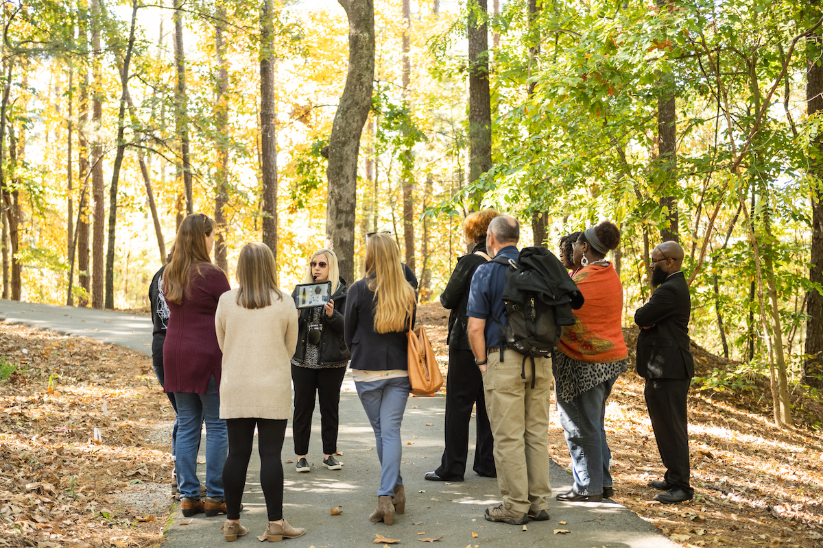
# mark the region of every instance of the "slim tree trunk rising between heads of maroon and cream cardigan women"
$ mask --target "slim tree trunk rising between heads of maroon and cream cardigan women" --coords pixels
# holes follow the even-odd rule
[[[223,32],[226,27],[226,7],[219,3],[214,26],[214,48],[217,58],[217,96],[214,119],[216,125],[215,148],[217,153],[214,199],[214,220],[217,223],[217,237],[214,244],[214,262],[224,271],[229,271],[226,258],[226,219],[223,208],[228,201],[229,187],[229,62],[226,59],[226,42]]]

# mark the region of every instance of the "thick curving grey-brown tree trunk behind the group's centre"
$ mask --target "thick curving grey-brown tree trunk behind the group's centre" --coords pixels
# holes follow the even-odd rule
[[[337,0],[349,20],[349,67],[328,142],[326,244],[340,260],[340,275],[354,279],[357,156],[374,85],[374,2]]]

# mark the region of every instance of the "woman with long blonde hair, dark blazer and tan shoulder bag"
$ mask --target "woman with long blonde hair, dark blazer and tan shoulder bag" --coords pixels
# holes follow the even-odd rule
[[[352,378],[369,417],[380,487],[371,522],[394,523],[406,508],[400,476],[400,426],[412,385],[407,371],[406,332],[414,325],[416,296],[403,275],[400,250],[388,234],[366,240],[365,277],[349,289],[345,339],[351,348]]]

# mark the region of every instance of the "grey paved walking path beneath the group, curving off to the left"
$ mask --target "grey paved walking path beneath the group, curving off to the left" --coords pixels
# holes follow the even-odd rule
[[[85,335],[107,343],[151,352],[151,319],[148,316],[92,311],[67,306],[35,305],[0,301],[0,320],[32,325],[64,334]],[[467,546],[562,546],[563,548],[669,548],[677,546],[656,527],[644,522],[620,504],[604,502],[560,503],[551,499],[551,519],[523,526],[490,523],[483,510],[500,502],[494,479],[468,472],[466,481],[443,483],[425,481],[425,472],[439,465],[443,450],[444,403],[442,396],[409,398],[402,426],[402,475],[408,497],[406,513],[395,516],[394,525],[367,521],[377,504],[379,463],[374,451],[374,434],[360,406],[354,383],[346,375],[340,401],[341,427],[338,448],[345,465],[340,471],[323,467],[320,449],[319,411],[314,414],[314,430],[309,453],[311,472],[298,473],[293,463],[291,428],[286,431],[283,461],[286,479],[284,515],[306,534],[287,540],[292,548],[338,548],[374,546],[375,534],[399,539],[406,546],[425,538],[442,538],[440,548]],[[472,424],[473,428],[473,424]],[[205,445],[205,444],[203,444]],[[202,447],[201,449],[205,449]],[[473,446],[469,448],[472,462]],[[201,458],[203,460],[203,458]],[[266,506],[259,485],[260,461],[253,455],[244,495],[241,523],[249,527],[249,536],[240,537],[245,546],[257,546],[256,536],[266,528]],[[205,467],[201,466],[201,479]],[[571,477],[556,463],[551,463],[551,486],[556,493],[570,489]],[[620,490],[616,486],[616,490]],[[342,509],[332,516],[329,510]],[[164,548],[198,548],[222,546],[221,525],[225,516],[206,518],[199,514],[184,518],[174,507]],[[565,522],[565,523],[561,523]],[[557,530],[569,531],[556,533]],[[421,534],[423,533],[423,534]],[[477,536],[472,536],[477,533]],[[239,546],[239,545],[235,545]],[[382,546],[382,545],[380,545]]]

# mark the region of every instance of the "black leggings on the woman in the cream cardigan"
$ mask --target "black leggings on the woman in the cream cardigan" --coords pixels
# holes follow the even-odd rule
[[[266,497],[268,521],[283,518],[283,464],[280,461],[287,419],[227,419],[229,457],[223,467],[226,490],[226,518],[240,518],[240,500],[246,486],[246,471],[252,456],[254,426],[258,428],[260,451],[260,486]]]

